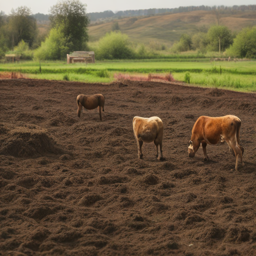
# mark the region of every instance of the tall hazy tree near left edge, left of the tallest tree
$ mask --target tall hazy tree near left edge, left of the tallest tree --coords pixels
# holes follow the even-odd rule
[[[24,40],[31,46],[37,35],[36,19],[31,16],[31,9],[27,6],[20,6],[12,10],[8,29],[12,48],[21,40]]]

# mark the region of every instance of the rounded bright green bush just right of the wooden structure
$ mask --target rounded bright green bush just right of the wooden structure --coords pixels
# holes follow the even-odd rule
[[[99,39],[96,55],[100,59],[126,59],[133,56],[128,36],[120,31],[111,31]]]

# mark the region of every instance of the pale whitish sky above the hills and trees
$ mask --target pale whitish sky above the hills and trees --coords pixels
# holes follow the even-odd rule
[[[58,0],[0,0],[0,10],[9,14],[11,8],[26,5],[30,7],[32,13],[49,12],[50,6],[57,3]],[[149,9],[149,8],[175,8],[179,6],[199,6],[199,5],[248,5],[256,4],[255,0],[80,0],[87,4],[87,12],[100,12],[104,10],[131,10],[131,9]]]

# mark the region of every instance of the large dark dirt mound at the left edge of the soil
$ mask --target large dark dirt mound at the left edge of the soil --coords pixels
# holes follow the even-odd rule
[[[0,154],[15,157],[41,156],[44,154],[60,154],[63,149],[47,135],[47,130],[39,126],[16,127],[3,141]]]

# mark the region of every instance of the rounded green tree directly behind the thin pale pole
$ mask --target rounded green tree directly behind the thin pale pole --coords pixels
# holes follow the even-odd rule
[[[212,50],[224,51],[232,43],[231,30],[223,25],[213,25],[209,28],[207,35]]]

